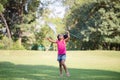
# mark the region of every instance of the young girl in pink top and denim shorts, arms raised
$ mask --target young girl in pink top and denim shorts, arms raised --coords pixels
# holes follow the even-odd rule
[[[48,38],[50,42],[56,43],[57,48],[58,48],[58,62],[59,62],[59,70],[60,70],[60,76],[63,76],[63,69],[66,72],[67,76],[70,76],[68,69],[65,65],[65,60],[66,60],[66,42],[69,41],[70,39],[70,34],[67,31],[67,36],[64,36],[63,34],[59,34],[57,36],[58,40],[54,41],[51,38]],[[62,68],[63,67],[63,68]]]

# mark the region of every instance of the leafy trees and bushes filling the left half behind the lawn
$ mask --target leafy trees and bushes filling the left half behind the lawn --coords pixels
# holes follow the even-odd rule
[[[0,48],[31,49],[34,45],[47,45],[44,38],[53,35],[46,23],[37,28],[39,17],[49,21],[48,4],[40,0],[0,0]],[[59,18],[53,19],[59,20]]]

